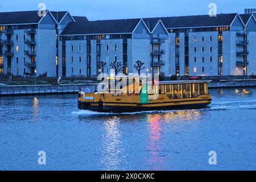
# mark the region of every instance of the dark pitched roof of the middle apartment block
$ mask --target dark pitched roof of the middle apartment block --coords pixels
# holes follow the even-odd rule
[[[132,33],[141,19],[97,20],[68,23],[61,35]]]

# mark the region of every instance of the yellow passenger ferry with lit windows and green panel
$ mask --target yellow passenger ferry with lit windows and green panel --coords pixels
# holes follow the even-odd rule
[[[151,81],[135,80],[123,87],[126,92],[85,92],[80,90],[78,108],[104,113],[131,113],[138,111],[199,109],[208,106],[212,98],[209,81]],[[117,83],[115,83],[117,84]],[[110,85],[109,85],[110,86]]]

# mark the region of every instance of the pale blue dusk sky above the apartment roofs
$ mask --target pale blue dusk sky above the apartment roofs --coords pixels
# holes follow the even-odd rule
[[[208,14],[209,3],[216,3],[217,13],[243,13],[245,8],[256,8],[255,0],[1,0],[0,11],[38,10],[45,3],[52,11],[68,10],[72,15],[87,16],[89,20],[147,18]]]

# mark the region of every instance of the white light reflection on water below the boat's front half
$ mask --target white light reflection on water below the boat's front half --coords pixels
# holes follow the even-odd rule
[[[104,122],[101,146],[101,168],[103,170],[121,170],[123,146],[119,131],[120,118],[110,117]]]

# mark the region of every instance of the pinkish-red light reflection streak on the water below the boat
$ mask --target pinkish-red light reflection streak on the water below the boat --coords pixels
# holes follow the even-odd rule
[[[148,165],[153,167],[153,170],[159,171],[164,169],[164,157],[160,156],[159,152],[162,151],[163,146],[163,135],[161,128],[161,115],[160,114],[148,114],[147,122],[149,123],[149,144],[147,151],[149,152],[148,156]]]

